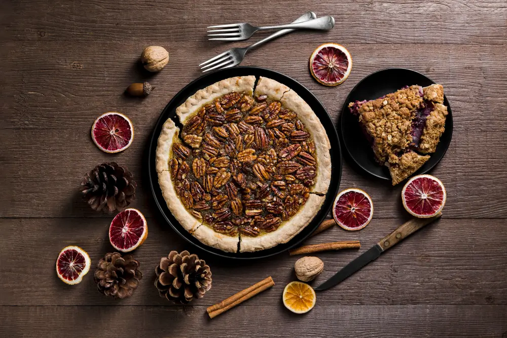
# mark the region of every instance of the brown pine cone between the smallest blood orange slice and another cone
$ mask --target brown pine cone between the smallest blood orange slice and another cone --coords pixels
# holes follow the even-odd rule
[[[125,298],[132,295],[139,285],[142,274],[138,268],[139,261],[131,254],[122,258],[118,252],[106,253],[97,263],[93,280],[106,296]]]

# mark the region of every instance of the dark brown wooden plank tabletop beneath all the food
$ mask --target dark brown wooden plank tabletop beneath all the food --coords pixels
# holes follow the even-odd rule
[[[505,0],[424,2],[4,0],[0,3],[0,336],[239,337],[507,337],[507,3]],[[271,68],[310,89],[335,123],[350,90],[373,71],[406,67],[444,85],[454,133],[431,171],[445,184],[444,217],[388,251],[340,285],[317,294],[306,315],[281,302],[295,280],[288,253],[230,262],[197,250],[162,219],[147,182],[147,144],[162,109],[200,76],[197,65],[231,46],[208,42],[206,26],[248,21],[277,24],[307,10],[333,15],[330,32],[299,31],[249,54],[243,65]],[[256,41],[266,34],[257,34]],[[308,58],[336,42],[352,54],[350,77],[338,87],[316,83]],[[141,51],[164,46],[168,65],[157,74],[139,67]],[[157,88],[128,98],[132,82]],[[95,118],[118,110],[132,120],[135,139],[117,155],[90,139]],[[147,216],[150,235],[135,251],[143,279],[130,298],[100,294],[93,270],[76,286],[54,271],[66,245],[92,259],[112,252],[110,215],[80,198],[83,175],[116,161],[137,178],[133,207]],[[331,277],[408,219],[402,186],[357,172],[347,160],[340,187],[366,190],[374,219],[359,232],[335,227],[307,243],[360,240],[359,251],[319,253]],[[182,307],[160,298],[154,268],[171,250],[206,259],[213,284]],[[209,320],[206,307],[272,276],[276,285]]]

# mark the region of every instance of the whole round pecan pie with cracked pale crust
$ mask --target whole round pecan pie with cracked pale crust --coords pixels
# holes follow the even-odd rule
[[[167,206],[202,243],[271,248],[303,230],[331,179],[328,136],[293,90],[253,76],[217,82],[176,109],[157,146]]]

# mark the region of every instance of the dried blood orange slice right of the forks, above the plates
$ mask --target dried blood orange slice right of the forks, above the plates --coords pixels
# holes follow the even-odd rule
[[[323,44],[310,56],[310,72],[324,86],[338,86],[352,70],[352,57],[338,44]]]

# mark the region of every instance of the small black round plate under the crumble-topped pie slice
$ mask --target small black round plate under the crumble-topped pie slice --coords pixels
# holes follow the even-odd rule
[[[434,84],[423,74],[405,68],[388,68],[374,72],[359,81],[352,89],[343,104],[340,118],[340,129],[343,146],[347,149],[350,158],[366,172],[386,180],[391,180],[389,169],[386,166],[379,165],[375,161],[373,150],[370,143],[366,140],[357,121],[348,109],[349,102],[360,100],[374,100],[383,95],[393,93],[405,86],[419,85],[429,86]],[[424,174],[437,165],[444,157],[452,137],[452,112],[449,101],[444,95],[444,104],[447,106],[447,119],[445,131],[440,137],[440,143],[437,151],[431,155],[431,158],[414,175]]]

